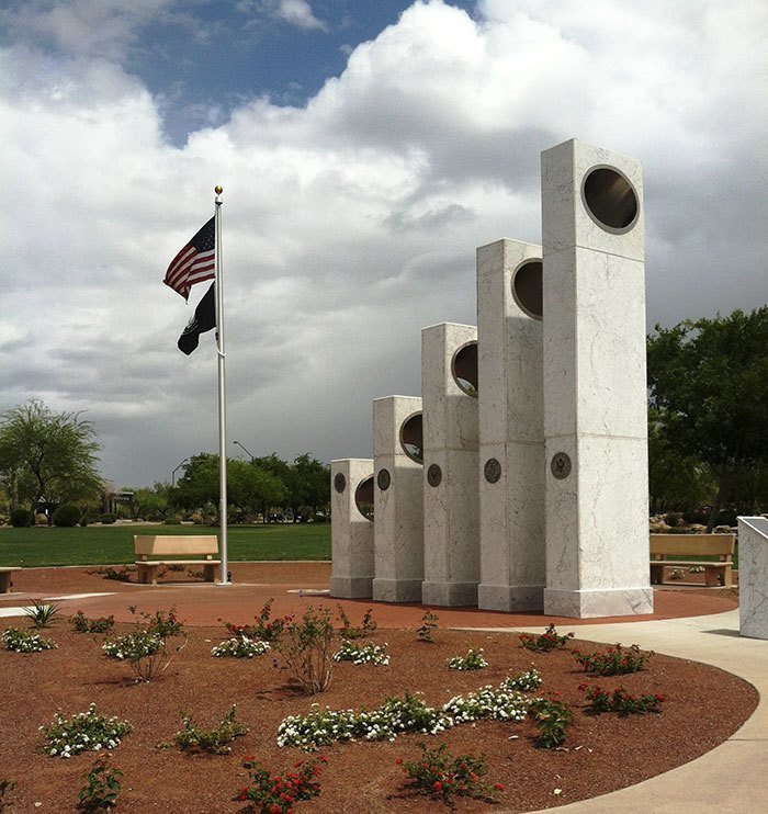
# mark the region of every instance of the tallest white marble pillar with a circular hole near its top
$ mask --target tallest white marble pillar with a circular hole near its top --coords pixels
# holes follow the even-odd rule
[[[643,179],[578,140],[545,150],[544,612],[653,612]]]

